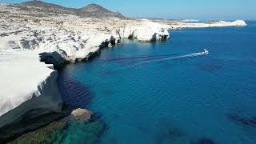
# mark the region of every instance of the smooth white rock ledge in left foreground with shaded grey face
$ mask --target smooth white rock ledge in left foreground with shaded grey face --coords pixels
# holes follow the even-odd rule
[[[60,110],[57,71],[39,62],[40,51],[0,52],[0,127],[14,122],[29,110]],[[16,107],[19,109],[14,110]],[[14,110],[13,113],[7,113]]]

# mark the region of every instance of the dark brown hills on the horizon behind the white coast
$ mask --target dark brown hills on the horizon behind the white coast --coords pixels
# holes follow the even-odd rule
[[[116,17],[126,18],[118,12],[107,10],[106,8],[99,6],[98,4],[89,4],[82,8],[70,8],[60,6],[53,3],[42,2],[38,0],[32,0],[22,3],[16,3],[12,6],[16,6],[21,10],[25,10],[28,13],[42,12],[42,13],[53,13],[53,14],[73,14],[79,17],[92,17],[92,18],[103,18],[103,17]]]

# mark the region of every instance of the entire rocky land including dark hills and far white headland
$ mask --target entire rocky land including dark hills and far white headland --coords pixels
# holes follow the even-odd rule
[[[46,126],[45,131],[61,129],[70,119],[87,123],[92,115],[87,110],[73,111],[71,116],[71,110],[63,112],[56,83],[62,66],[86,62],[125,38],[163,41],[170,38],[168,30],[215,26],[246,26],[246,22],[134,19],[96,4],[74,9],[41,1],[1,3],[0,143],[42,126]],[[72,117],[81,111],[86,115]],[[39,130],[28,135],[42,133]],[[22,138],[16,142],[23,142]]]

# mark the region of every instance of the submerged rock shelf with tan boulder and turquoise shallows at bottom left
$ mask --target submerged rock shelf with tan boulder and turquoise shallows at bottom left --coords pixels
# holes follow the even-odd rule
[[[27,133],[10,144],[50,143],[96,143],[100,141],[106,124],[101,121],[89,122],[90,110],[73,110],[70,116],[52,122],[48,126]],[[85,123],[89,122],[89,123]]]

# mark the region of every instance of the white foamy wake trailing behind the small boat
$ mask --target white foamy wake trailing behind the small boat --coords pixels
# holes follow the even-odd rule
[[[161,59],[148,60],[148,61],[144,61],[144,62],[138,62],[138,63],[135,63],[134,65],[126,66],[126,68],[131,68],[131,67],[134,67],[134,66],[147,64],[147,63],[152,63],[152,62],[162,62],[162,61],[167,61],[167,60],[171,60],[171,59],[178,59],[178,58],[198,57],[198,56],[201,56],[201,55],[203,55],[203,54],[202,53],[182,54],[182,55],[178,55],[178,56],[174,56],[174,57],[168,57],[168,58],[161,58]]]

